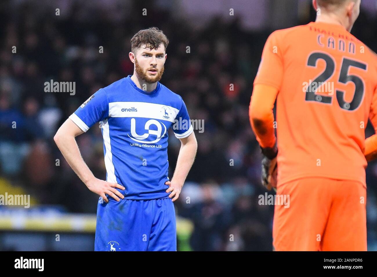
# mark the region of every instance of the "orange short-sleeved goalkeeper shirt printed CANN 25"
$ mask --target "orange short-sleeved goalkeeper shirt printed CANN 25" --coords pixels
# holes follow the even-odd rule
[[[277,88],[278,185],[303,177],[365,185],[365,127],[377,127],[377,56],[323,22],[268,37],[254,80]],[[270,139],[271,141],[271,139]]]

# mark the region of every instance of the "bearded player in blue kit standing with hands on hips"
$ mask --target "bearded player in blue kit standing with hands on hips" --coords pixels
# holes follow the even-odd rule
[[[197,142],[182,97],[162,85],[169,41],[156,27],[131,39],[132,76],[101,88],[58,129],[54,140],[89,190],[100,195],[95,251],[176,251],[173,201],[193,164]],[[94,177],[75,137],[100,122],[106,181]],[[181,141],[168,177],[168,129]]]

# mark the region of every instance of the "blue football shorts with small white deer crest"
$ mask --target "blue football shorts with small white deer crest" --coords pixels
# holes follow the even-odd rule
[[[97,206],[94,251],[176,251],[175,208],[171,198],[116,201]]]

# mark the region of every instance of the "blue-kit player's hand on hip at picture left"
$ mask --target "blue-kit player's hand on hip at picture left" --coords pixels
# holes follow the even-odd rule
[[[116,201],[120,201],[120,198],[124,198],[124,195],[117,189],[125,190],[126,188],[121,186],[117,183],[110,183],[100,179],[93,179],[87,182],[86,186],[88,189],[94,193],[100,195],[103,200],[107,203],[109,199],[107,199],[106,194],[114,198]]]

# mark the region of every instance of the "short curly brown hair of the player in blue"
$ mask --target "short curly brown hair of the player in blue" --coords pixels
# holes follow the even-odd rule
[[[169,44],[166,35],[157,27],[150,27],[148,29],[139,30],[139,32],[131,38],[131,51],[135,53],[143,44],[151,50],[157,49],[161,43],[164,44],[166,51],[167,45]]]

